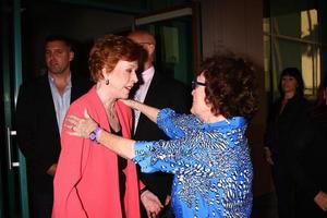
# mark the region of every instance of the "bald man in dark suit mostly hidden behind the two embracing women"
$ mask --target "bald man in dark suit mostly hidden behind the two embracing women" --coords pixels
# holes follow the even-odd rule
[[[156,40],[152,34],[145,31],[134,31],[129,38],[142,45],[148,53],[144,63],[144,71],[141,74],[142,84],[134,95],[134,99],[145,102],[156,108],[172,108],[177,112],[190,112],[191,95],[187,88],[180,82],[165,76],[153,65]],[[134,112],[134,140],[137,141],[158,141],[168,140],[166,134],[157,125],[140,114]],[[170,202],[170,192],[172,175],[164,172],[141,173],[141,181],[145,189],[141,190],[142,217],[153,216],[158,211],[158,207],[168,206]],[[146,211],[145,211],[146,210]]]

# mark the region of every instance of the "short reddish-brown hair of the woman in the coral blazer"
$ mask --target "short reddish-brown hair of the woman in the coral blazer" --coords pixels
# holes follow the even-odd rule
[[[88,68],[94,82],[104,78],[101,70],[106,66],[111,72],[119,60],[137,61],[143,65],[146,51],[133,40],[117,35],[105,35],[98,38],[89,52]]]

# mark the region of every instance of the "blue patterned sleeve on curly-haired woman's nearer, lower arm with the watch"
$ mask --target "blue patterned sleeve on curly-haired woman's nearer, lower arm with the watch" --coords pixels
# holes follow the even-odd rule
[[[171,141],[136,142],[133,161],[141,166],[142,172],[208,175],[211,169],[204,165],[203,157],[198,156],[199,153],[196,150],[196,145],[202,144],[197,138],[203,137],[203,133],[198,133]]]

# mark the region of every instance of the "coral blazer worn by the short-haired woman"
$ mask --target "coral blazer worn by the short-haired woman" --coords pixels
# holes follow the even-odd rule
[[[95,86],[74,101],[69,114],[89,116],[106,131],[110,131],[107,114]],[[132,112],[121,101],[116,110],[122,135],[131,137]],[[118,157],[114,153],[88,138],[61,133],[61,154],[55,175],[53,218],[121,218]],[[128,160],[124,207],[126,218],[140,218],[136,167]]]

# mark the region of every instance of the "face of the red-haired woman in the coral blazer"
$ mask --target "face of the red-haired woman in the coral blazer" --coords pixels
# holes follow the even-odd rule
[[[137,83],[135,71],[137,70],[137,61],[119,60],[114,69],[110,73],[105,73],[105,81],[109,80],[108,89],[114,98],[128,98],[131,88]],[[104,82],[104,81],[102,81]]]

